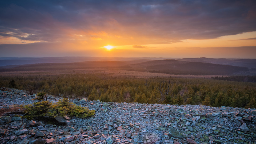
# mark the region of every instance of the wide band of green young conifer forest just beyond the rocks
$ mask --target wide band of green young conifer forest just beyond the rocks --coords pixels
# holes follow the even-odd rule
[[[108,74],[0,76],[0,86],[103,102],[256,107],[256,83],[205,78],[130,78]]]

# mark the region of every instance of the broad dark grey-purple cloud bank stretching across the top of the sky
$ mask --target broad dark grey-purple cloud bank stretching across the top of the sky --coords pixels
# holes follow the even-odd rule
[[[0,38],[21,41],[65,41],[75,32],[106,31],[153,44],[256,31],[254,0],[17,0],[1,1],[0,13]]]

